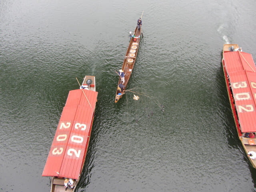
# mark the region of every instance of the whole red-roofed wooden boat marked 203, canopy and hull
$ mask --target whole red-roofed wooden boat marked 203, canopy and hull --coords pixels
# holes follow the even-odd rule
[[[51,192],[72,192],[82,172],[97,102],[95,77],[85,76],[80,89],[71,90],[63,108],[42,176],[51,177]],[[64,187],[72,179],[73,188]]]

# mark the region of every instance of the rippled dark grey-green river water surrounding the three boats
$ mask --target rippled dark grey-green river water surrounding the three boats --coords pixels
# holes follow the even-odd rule
[[[76,191],[256,191],[221,67],[228,42],[256,61],[255,8],[254,0],[0,0],[0,191],[50,190],[42,171],[68,92],[86,74],[99,94]],[[129,93],[114,104],[114,71],[142,11],[128,89],[150,98]]]

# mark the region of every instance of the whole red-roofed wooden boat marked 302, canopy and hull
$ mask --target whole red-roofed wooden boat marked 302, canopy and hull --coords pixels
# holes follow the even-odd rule
[[[256,67],[251,54],[230,51],[236,48],[224,44],[222,66],[238,137],[256,168]]]

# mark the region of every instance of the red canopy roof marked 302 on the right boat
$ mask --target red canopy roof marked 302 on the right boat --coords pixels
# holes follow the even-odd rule
[[[223,54],[242,132],[256,132],[256,67],[251,54]]]

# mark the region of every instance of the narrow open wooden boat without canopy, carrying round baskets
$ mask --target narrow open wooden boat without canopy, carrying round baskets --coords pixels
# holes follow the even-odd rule
[[[135,29],[134,34],[130,40],[130,44],[128,46],[128,49],[126,51],[125,57],[124,57],[124,62],[122,65],[122,70],[124,71],[124,90],[126,90],[126,86],[129,82],[130,76],[132,74],[132,70],[135,64],[135,60],[138,54],[138,48],[140,45],[140,37],[141,37],[141,31],[142,29],[140,28],[140,30]],[[121,78],[119,77],[119,81],[118,81],[118,85],[121,83]],[[117,89],[116,89],[116,99],[115,99],[115,103],[118,102],[118,100],[120,98],[122,98],[123,93],[120,93],[118,91],[118,85],[117,85]]]

